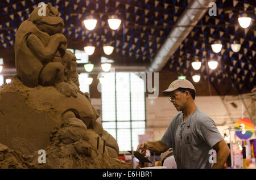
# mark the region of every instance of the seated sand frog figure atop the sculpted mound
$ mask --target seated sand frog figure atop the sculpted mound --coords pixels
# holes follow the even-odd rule
[[[27,87],[54,85],[66,96],[77,96],[76,88],[64,82],[62,57],[67,39],[61,33],[63,19],[55,7],[46,6],[46,16],[40,16],[40,7],[23,22],[15,40],[15,66],[19,79]]]

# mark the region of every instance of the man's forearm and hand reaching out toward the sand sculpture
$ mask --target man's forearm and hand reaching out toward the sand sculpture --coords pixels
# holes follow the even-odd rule
[[[169,148],[170,146],[158,140],[155,142],[142,142],[141,144],[138,145],[137,151],[139,151],[139,149],[142,149],[142,152],[141,152],[142,155],[146,155],[146,149],[152,152],[162,153],[162,152],[166,152]]]

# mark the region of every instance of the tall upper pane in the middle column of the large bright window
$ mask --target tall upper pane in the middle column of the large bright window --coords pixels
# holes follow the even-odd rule
[[[117,120],[130,121],[130,80],[129,73],[116,73]]]

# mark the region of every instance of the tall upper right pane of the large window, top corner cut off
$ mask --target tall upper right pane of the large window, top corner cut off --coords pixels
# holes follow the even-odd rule
[[[144,81],[131,73],[131,120],[145,120]]]

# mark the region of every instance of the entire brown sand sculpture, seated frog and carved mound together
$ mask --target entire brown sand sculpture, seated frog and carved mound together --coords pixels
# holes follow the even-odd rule
[[[16,33],[17,75],[0,87],[0,168],[129,168],[116,140],[97,122],[79,89],[76,57],[48,4],[35,8]],[[105,144],[105,146],[104,146]],[[46,163],[38,151],[46,151]]]

